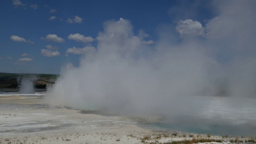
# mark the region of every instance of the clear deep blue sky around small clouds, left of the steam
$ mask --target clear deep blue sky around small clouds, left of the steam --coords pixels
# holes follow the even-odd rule
[[[175,2],[168,1],[118,1],[118,0],[6,0],[1,1],[1,72],[55,73],[68,62],[78,65],[80,55],[65,56],[68,48],[87,45],[95,46],[96,41],[79,43],[69,40],[70,34],[79,33],[96,38],[107,20],[127,18],[134,24],[134,31],[144,29],[156,38],[155,29],[160,23],[170,23],[168,8]],[[67,20],[81,18],[69,23]],[[52,18],[52,19],[50,19]],[[42,40],[48,34],[56,34],[65,42]],[[10,36],[18,36],[29,42],[17,42]],[[58,47],[60,54],[43,56],[46,45]],[[56,50],[53,50],[56,51]],[[22,56],[23,54],[23,56]],[[22,59],[20,58],[30,58]],[[30,61],[31,60],[31,61]]]

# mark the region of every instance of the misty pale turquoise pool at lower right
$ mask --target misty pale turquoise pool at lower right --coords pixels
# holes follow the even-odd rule
[[[167,115],[164,122],[142,126],[229,136],[250,136],[256,132],[255,98],[192,96],[189,100],[197,104],[198,112]]]

